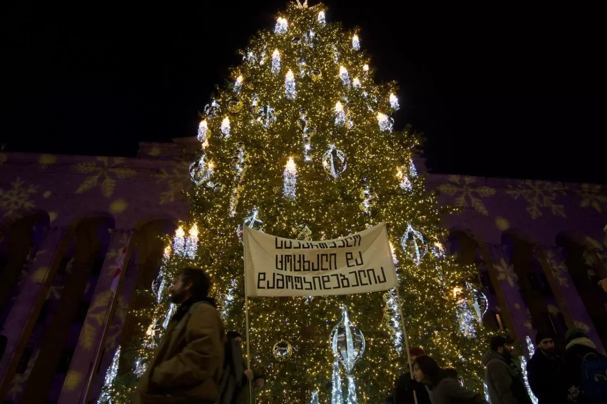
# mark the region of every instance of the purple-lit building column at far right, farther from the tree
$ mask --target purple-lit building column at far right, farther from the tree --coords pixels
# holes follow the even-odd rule
[[[540,261],[567,325],[583,329],[599,351],[605,352],[599,334],[592,325],[592,319],[569,275],[561,247],[540,247]]]

